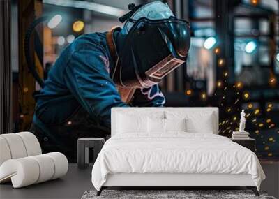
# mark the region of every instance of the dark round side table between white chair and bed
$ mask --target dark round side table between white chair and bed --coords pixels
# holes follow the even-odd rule
[[[80,138],[77,140],[77,167],[87,168],[89,165],[89,149],[93,149],[93,163],[105,143],[103,138]]]

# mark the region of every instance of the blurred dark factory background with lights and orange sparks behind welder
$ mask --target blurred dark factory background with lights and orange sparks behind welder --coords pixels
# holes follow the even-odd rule
[[[1,10],[10,6],[1,13],[0,29],[6,29],[0,54],[6,66],[0,67],[1,131],[29,129],[33,94],[64,47],[82,34],[121,26],[118,18],[128,3],[145,2],[1,1]],[[256,139],[259,158],[279,159],[279,1],[165,2],[176,17],[190,22],[192,36],[187,66],[160,84],[166,106],[217,106],[220,135],[228,137],[238,130],[245,109],[246,131]],[[12,91],[5,90],[9,86]]]

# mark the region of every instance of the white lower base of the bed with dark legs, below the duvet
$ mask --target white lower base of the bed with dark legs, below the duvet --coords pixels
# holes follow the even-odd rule
[[[229,175],[229,174],[135,174],[119,173],[108,175],[107,181],[97,192],[97,196],[107,188],[124,189],[236,189],[246,187],[252,189],[259,196],[257,187],[252,181],[251,175]]]

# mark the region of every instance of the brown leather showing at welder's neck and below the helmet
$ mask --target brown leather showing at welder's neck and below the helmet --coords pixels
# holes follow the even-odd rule
[[[117,29],[120,29],[120,28],[119,27],[112,28],[110,31],[107,32],[107,35],[106,35],[107,45],[109,47],[110,55],[112,56],[114,64],[117,64],[118,59],[119,59],[118,55],[117,55],[117,52],[116,52],[114,38],[113,38],[114,31],[117,30]],[[135,94],[135,89],[125,89],[125,88],[120,87],[118,85],[116,85],[116,89],[119,92],[119,95],[121,96],[121,100],[123,102],[130,103],[130,101],[133,100],[133,96]]]

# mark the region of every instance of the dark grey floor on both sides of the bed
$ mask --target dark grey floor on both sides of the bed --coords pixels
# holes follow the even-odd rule
[[[262,191],[279,198],[279,161],[262,161],[266,180],[262,182]],[[68,174],[61,179],[34,184],[20,189],[13,189],[10,183],[0,185],[0,198],[81,198],[84,191],[92,190],[92,165],[85,170],[70,164]]]

